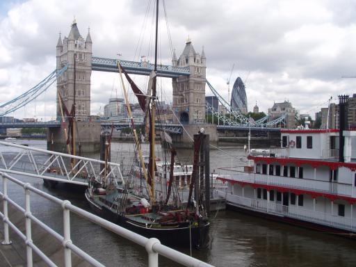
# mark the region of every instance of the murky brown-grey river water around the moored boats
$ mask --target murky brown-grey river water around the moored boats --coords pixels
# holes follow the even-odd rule
[[[44,140],[18,140],[33,147],[45,148]],[[145,147],[147,149],[147,147]],[[1,149],[4,149],[1,147]],[[236,147],[223,147],[234,156],[245,152]],[[111,160],[124,164],[131,161],[132,144],[113,143]],[[92,155],[98,157],[98,155]],[[241,165],[237,158],[219,150],[211,150],[211,171],[231,165]],[[193,159],[191,150],[179,150],[181,162]],[[82,194],[64,190],[65,186],[47,188],[40,179],[21,177],[35,187],[61,199],[67,199],[82,209],[90,211]],[[0,186],[2,191],[2,185]],[[22,188],[10,184],[10,197],[23,204]],[[31,198],[31,209],[49,226],[62,234],[62,211],[56,204],[41,197]],[[236,211],[213,213],[211,244],[203,250],[193,250],[193,257],[215,266],[356,266],[356,241],[332,236],[309,229],[276,223],[264,218],[246,216]],[[147,266],[144,248],[102,229],[75,215],[71,215],[72,240],[84,251],[106,266]],[[2,225],[2,224],[1,224]],[[189,250],[179,249],[189,254]],[[160,266],[178,266],[160,257]],[[1,266],[1,263],[0,263]]]

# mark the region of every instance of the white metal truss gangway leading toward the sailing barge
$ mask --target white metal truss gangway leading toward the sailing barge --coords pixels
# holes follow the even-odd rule
[[[102,177],[105,170],[108,179],[124,184],[118,163],[0,141],[0,172],[88,186],[88,179]]]

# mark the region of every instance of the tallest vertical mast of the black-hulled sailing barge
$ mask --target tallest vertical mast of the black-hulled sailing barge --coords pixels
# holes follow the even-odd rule
[[[155,38],[155,44],[154,44],[154,72],[157,73],[157,43],[158,43],[158,32],[159,32],[159,0],[156,0],[156,38]],[[156,197],[155,197],[155,190],[154,190],[154,173],[155,173],[155,168],[156,168],[156,157],[154,155],[154,120],[155,120],[155,113],[156,113],[156,86],[157,86],[157,75],[154,76],[153,78],[153,87],[152,87],[152,109],[151,109],[151,115],[152,115],[152,124],[151,124],[151,135],[152,135],[152,140],[151,140],[151,150],[152,150],[152,165],[151,165],[151,190],[152,190],[152,204],[156,202]]]

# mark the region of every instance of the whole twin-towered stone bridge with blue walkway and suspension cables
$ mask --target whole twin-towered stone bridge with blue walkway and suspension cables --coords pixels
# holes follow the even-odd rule
[[[97,122],[90,120],[90,79],[92,71],[101,72],[118,72],[118,59],[101,58],[92,56],[92,39],[90,32],[84,39],[79,33],[79,29],[74,21],[72,23],[68,37],[61,36],[58,38],[56,45],[56,72],[57,80],[57,122],[36,122],[23,124],[2,124],[0,127],[48,127],[49,135],[48,142],[55,140],[58,147],[56,150],[61,151],[66,145],[63,125],[60,124],[63,116],[60,102],[63,106],[70,110],[74,108],[74,118],[77,121],[76,135],[81,137],[81,147],[83,152],[90,152],[99,149],[99,136],[101,131],[107,129],[111,122]],[[149,63],[149,60],[141,60],[140,62],[120,60],[120,64],[129,74],[149,75],[154,70],[154,65]],[[172,111],[175,113],[174,124],[170,126],[161,125],[161,129],[175,133],[174,140],[178,143],[191,143],[188,135],[193,135],[201,127],[204,127],[207,133],[210,134],[212,142],[218,141],[217,131],[244,131],[244,127],[248,125],[248,118],[236,111],[232,112],[232,117],[235,120],[226,120],[225,125],[216,126],[214,124],[205,123],[205,90],[206,85],[211,91],[218,96],[221,104],[229,106],[223,97],[218,94],[211,84],[206,79],[207,58],[204,53],[204,48],[201,53],[195,51],[191,40],[186,41],[186,46],[183,52],[177,58],[173,54],[172,65],[159,65],[157,76],[168,77],[172,79]],[[47,90],[50,84],[47,79],[44,79],[38,86],[22,94],[20,97],[11,100],[10,103],[15,111],[20,106],[28,104],[35,99],[40,93]],[[53,81],[51,81],[53,83]],[[47,87],[46,87],[47,86]],[[59,97],[60,95],[60,97]],[[29,97],[31,96],[31,97]],[[61,99],[61,100],[60,100]],[[6,103],[6,104],[8,104]],[[0,106],[0,109],[6,104]],[[10,112],[10,111],[8,111]],[[1,113],[1,111],[0,111]],[[213,114],[220,116],[218,111],[212,111]],[[1,113],[5,115],[7,113]],[[239,121],[239,122],[238,122]],[[225,122],[224,122],[225,123]],[[182,124],[184,124],[183,131]],[[116,123],[115,129],[129,127],[129,124]],[[251,126],[251,125],[250,125]],[[252,127],[260,127],[261,125],[252,125]],[[271,126],[271,125],[270,125]],[[158,125],[160,127],[160,125]],[[257,129],[257,128],[256,128]],[[272,129],[263,129],[264,131],[273,131]],[[258,131],[258,130],[257,130]],[[55,145],[56,146],[56,145]],[[87,149],[86,149],[87,147]]]

